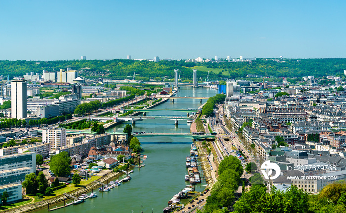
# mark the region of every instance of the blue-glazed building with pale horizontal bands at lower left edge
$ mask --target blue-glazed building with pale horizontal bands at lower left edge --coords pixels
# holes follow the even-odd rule
[[[9,197],[7,202],[11,203],[22,199],[22,184],[25,175],[35,172],[36,154],[26,152],[0,157],[0,198],[4,191]]]

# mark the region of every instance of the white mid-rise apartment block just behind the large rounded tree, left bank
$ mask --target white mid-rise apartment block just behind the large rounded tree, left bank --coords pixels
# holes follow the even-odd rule
[[[50,143],[51,149],[66,146],[66,129],[54,128],[42,130],[42,142]]]

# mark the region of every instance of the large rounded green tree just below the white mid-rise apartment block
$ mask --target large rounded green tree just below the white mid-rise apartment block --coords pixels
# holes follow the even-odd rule
[[[50,161],[50,170],[57,176],[63,177],[70,174],[71,158],[67,152],[54,155]]]

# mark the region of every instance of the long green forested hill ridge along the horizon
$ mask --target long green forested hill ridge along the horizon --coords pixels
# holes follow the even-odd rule
[[[73,61],[0,61],[0,75],[22,76],[25,73],[43,73],[46,71],[59,71],[71,67],[82,70],[80,75],[85,77],[124,78],[133,76],[136,79],[146,80],[149,77],[174,78],[174,69],[179,69],[181,79],[192,79],[192,68],[198,69],[198,77],[203,80],[218,79],[219,77],[237,78],[246,77],[247,74],[262,74],[264,77],[301,77],[307,75],[326,76],[342,74],[346,69],[345,58],[326,59],[284,59],[278,63],[273,59],[257,59],[249,62],[221,62],[221,63],[185,63],[184,61],[150,62],[138,60],[73,60]]]

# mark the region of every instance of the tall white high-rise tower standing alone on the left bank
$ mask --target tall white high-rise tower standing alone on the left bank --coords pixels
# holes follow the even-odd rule
[[[11,104],[12,118],[22,119],[27,117],[26,81],[24,79],[12,80]]]

